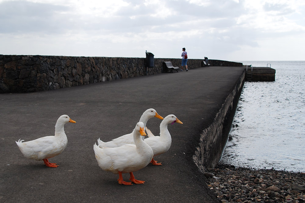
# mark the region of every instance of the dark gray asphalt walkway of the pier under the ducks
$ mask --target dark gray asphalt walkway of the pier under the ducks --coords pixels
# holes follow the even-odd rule
[[[192,156],[200,133],[215,118],[242,67],[194,68],[188,72],[101,82],[52,91],[0,94],[0,202],[218,202]],[[174,114],[183,124],[168,125],[172,145],[134,172],[145,184],[119,185],[118,175],[103,171],[95,159],[98,138],[110,141],[130,133],[142,113],[154,108]],[[67,114],[68,145],[43,161],[26,159],[15,141],[54,135],[55,123]],[[147,127],[159,135],[161,120]],[[129,174],[123,174],[129,180]]]

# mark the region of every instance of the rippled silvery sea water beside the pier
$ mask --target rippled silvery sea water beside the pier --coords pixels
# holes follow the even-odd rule
[[[305,61],[237,62],[275,82],[245,82],[221,163],[305,172]]]

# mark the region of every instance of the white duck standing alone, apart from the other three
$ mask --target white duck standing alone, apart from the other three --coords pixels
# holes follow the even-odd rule
[[[55,124],[55,136],[46,136],[28,142],[22,142],[24,140],[19,139],[16,144],[28,159],[43,160],[46,166],[56,168],[58,165],[50,163],[48,159],[59,155],[66,148],[68,139],[63,126],[68,122],[76,123],[69,116],[62,115]]]

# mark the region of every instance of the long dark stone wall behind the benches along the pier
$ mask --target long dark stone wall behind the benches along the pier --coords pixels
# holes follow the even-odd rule
[[[179,58],[146,58],[0,55],[0,93],[24,93],[59,89],[163,72],[163,61],[181,65]],[[209,60],[211,65],[239,63]],[[202,59],[188,59],[188,68],[202,66]]]

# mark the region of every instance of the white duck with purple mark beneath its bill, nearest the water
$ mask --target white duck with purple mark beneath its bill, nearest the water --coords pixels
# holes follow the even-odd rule
[[[154,136],[152,132],[148,128],[146,128],[146,132],[149,138],[145,138],[144,142],[146,142],[152,148],[154,157],[158,156],[159,154],[163,154],[167,152],[168,149],[170,149],[171,137],[170,132],[167,129],[167,125],[170,123],[183,124],[175,115],[170,114],[165,117],[160,124],[160,136]],[[151,160],[151,163],[152,165],[162,165],[161,163],[157,163],[157,161],[153,158]]]

